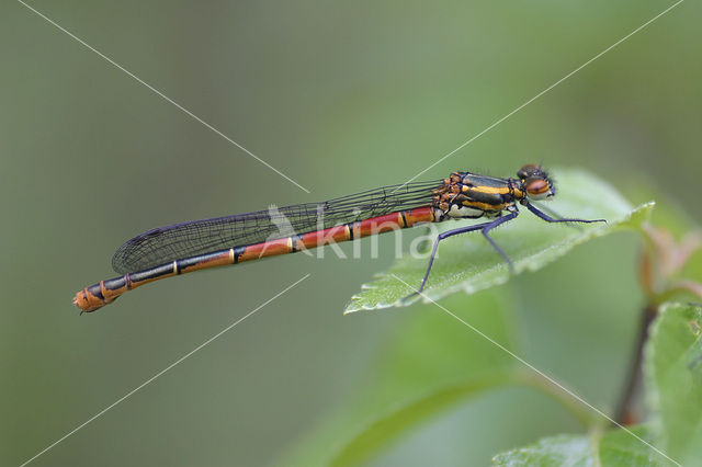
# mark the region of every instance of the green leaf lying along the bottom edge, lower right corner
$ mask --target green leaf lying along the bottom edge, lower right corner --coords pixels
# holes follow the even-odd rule
[[[646,425],[630,428],[639,438],[650,443]],[[666,466],[671,465],[648,445],[624,430],[612,430],[603,436],[562,434],[492,457],[496,466]]]

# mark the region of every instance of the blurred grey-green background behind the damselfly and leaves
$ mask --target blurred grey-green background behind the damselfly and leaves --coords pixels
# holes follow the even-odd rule
[[[116,247],[151,227],[401,183],[672,2],[31,4],[312,194],[4,2],[0,464],[34,456],[310,273],[33,463],[259,466],[292,463],[301,440],[374,391],[388,342],[437,312],[342,316],[392,263],[392,236],[376,260],[290,255],[203,272],[80,318],[76,291],[113,276]],[[701,21],[699,2],[681,3],[423,178],[511,175],[543,160],[587,168],[634,203],[667,193],[700,219]],[[490,292],[517,304],[522,355],[604,410],[635,333],[637,248],[631,234],[600,239]],[[453,304],[469,317],[472,299]],[[509,389],[446,412],[376,463],[485,465],[577,430],[553,401]]]

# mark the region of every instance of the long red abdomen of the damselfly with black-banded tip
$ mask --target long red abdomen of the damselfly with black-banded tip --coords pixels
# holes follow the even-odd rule
[[[228,264],[238,264],[244,261],[253,261],[267,257],[295,253],[306,249],[324,247],[329,243],[339,243],[356,238],[414,227],[420,223],[432,221],[434,221],[433,208],[420,207],[371,217],[356,223],[344,224],[308,234],[242,247],[233,247],[228,250],[184,258],[148,270],[100,281],[98,284],[93,284],[78,292],[73,297],[73,305],[82,311],[90,312],[114,301],[120,295],[127,291],[161,278]]]

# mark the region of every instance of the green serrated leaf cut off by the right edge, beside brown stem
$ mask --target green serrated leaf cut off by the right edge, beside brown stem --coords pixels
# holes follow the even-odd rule
[[[661,451],[683,465],[702,462],[702,308],[666,304],[645,348],[646,401]]]

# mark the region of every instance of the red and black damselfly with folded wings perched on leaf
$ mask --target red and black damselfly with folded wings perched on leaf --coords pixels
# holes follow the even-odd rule
[[[476,219],[486,223],[440,234],[433,243],[427,285],[439,243],[452,236],[480,230],[511,269],[511,261],[488,232],[525,206],[548,223],[598,223],[603,219],[554,218],[530,202],[556,193],[540,166],[528,164],[517,178],[453,172],[444,180],[385,186],[324,203],[307,203],[256,213],[173,224],[148,230],[120,247],[112,258],[118,277],[100,281],[76,294],[73,304],[94,311],[143,284],[227,264],[353,240],[423,223]]]

